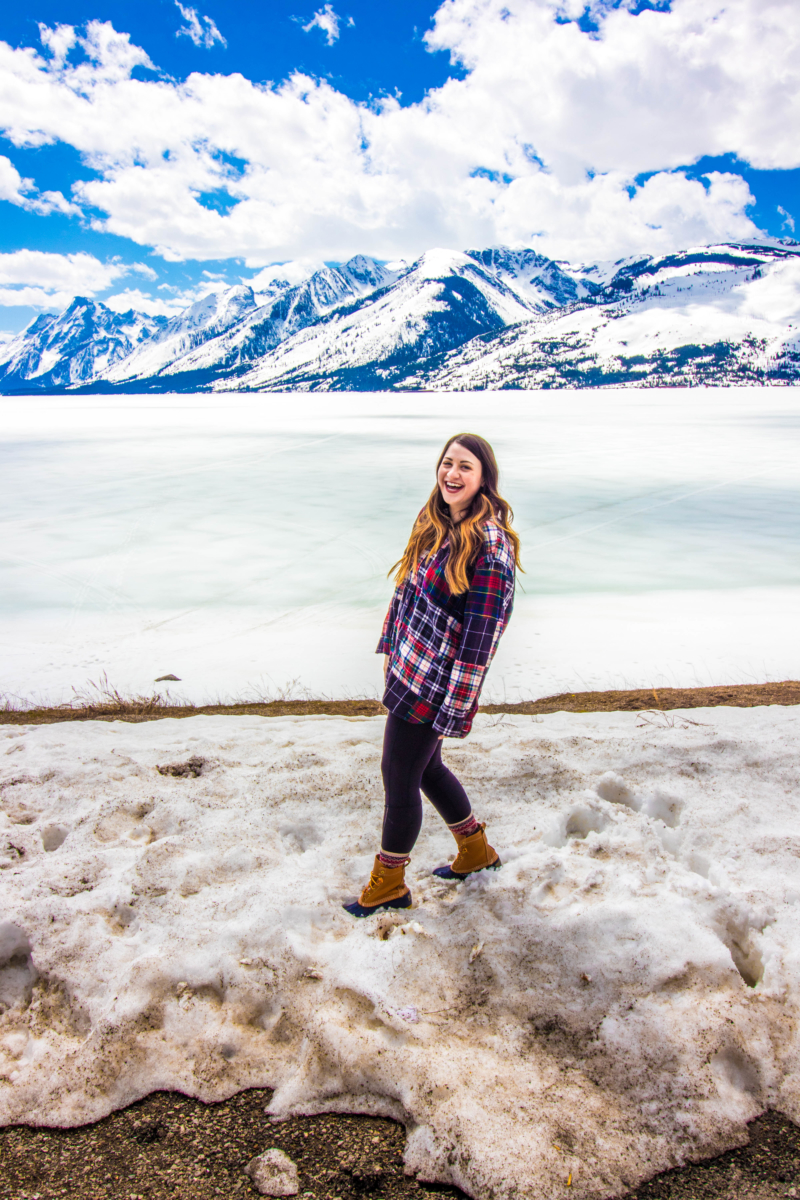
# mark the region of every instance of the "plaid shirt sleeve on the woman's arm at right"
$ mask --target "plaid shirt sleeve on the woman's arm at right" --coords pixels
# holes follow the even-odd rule
[[[483,678],[507,624],[513,583],[513,571],[495,554],[479,559],[447,694],[433,722],[437,733],[451,738],[469,733]]]

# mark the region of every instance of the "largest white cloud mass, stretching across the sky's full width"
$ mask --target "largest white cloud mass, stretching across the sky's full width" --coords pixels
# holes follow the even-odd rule
[[[172,260],[409,257],[531,245],[616,258],[757,235],[740,176],[679,168],[734,154],[800,166],[795,0],[673,0],[637,14],[596,0],[445,0],[427,42],[465,68],[417,104],[359,104],[324,80],[138,79],[109,24],[0,46],[0,124],[62,140],[96,178],[94,224]],[[188,10],[187,10],[188,11]],[[317,17],[331,16],[326,31]],[[314,24],[315,23],[315,24]],[[338,32],[321,8],[307,28]],[[86,60],[71,62],[78,43]],[[209,192],[230,199],[207,205]]]

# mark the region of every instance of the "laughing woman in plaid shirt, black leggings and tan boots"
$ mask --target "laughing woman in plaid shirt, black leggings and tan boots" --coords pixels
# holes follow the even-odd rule
[[[395,564],[397,587],[384,622],[389,709],[381,772],[386,804],[380,852],[354,917],[411,904],[404,871],[428,797],[456,839],[450,866],[434,871],[463,880],[500,866],[456,776],[441,761],[443,737],[465,738],[483,677],[513,605],[519,539],[498,492],[498,464],[475,433],[450,438],[437,463],[437,484],[405,552]]]

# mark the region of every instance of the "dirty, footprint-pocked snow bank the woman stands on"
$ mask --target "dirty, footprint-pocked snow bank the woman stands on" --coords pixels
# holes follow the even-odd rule
[[[0,727],[0,1117],[155,1088],[386,1114],[474,1195],[607,1196],[800,1120],[795,709],[481,716],[501,871],[355,923],[380,719]],[[157,767],[203,760],[185,775]]]

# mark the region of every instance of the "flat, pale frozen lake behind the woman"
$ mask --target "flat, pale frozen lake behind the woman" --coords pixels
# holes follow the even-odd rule
[[[0,400],[0,691],[378,695],[463,428],[527,570],[485,695],[800,678],[796,390],[65,396]]]

